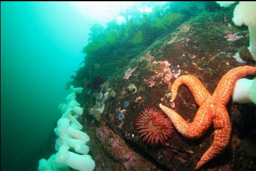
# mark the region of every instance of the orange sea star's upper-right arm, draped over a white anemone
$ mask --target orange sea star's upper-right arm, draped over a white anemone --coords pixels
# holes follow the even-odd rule
[[[226,105],[233,92],[235,82],[242,77],[253,74],[256,74],[256,67],[253,66],[242,66],[231,69],[220,79],[217,88],[213,92],[213,98],[218,99],[222,105]]]

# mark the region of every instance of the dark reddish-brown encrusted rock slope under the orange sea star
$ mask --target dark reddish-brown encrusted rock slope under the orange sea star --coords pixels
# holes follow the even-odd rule
[[[148,144],[136,131],[136,119],[147,107],[160,110],[161,103],[191,122],[198,105],[185,85],[171,103],[173,81],[192,74],[212,94],[227,71],[243,65],[234,56],[238,48],[248,46],[248,31],[234,26],[232,11],[233,7],[217,8],[179,18],[182,22],[177,27],[158,34],[151,44],[142,43],[145,37],[137,30],[131,41],[141,47],[125,47],[123,52],[111,47],[111,51],[97,50],[85,58],[85,66],[71,83],[84,87],[79,101],[84,107],[85,131],[91,137],[95,170],[193,170],[212,144],[213,127],[195,140],[186,139],[173,127],[165,142]],[[228,35],[233,33],[241,37],[230,41]],[[230,143],[200,170],[256,170],[255,109],[255,105],[230,100]]]

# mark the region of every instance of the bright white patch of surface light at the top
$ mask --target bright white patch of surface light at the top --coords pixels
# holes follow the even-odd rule
[[[93,19],[95,22],[108,22],[112,19],[120,21],[118,14],[125,9],[133,6],[135,2],[121,1],[95,1],[95,2],[71,2],[73,6],[87,19]]]

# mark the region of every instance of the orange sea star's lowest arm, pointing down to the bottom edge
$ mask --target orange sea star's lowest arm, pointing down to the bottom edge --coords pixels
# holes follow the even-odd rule
[[[217,109],[217,116],[213,119],[214,139],[210,148],[202,155],[197,163],[195,170],[199,169],[203,164],[207,163],[216,155],[225,149],[230,140],[231,124],[228,117],[227,109],[222,106]]]

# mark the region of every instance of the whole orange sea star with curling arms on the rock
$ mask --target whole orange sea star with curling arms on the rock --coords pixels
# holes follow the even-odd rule
[[[160,108],[170,117],[178,132],[188,139],[197,139],[207,131],[212,122],[215,129],[213,143],[203,154],[195,170],[218,155],[227,146],[230,140],[231,124],[225,105],[230,99],[235,82],[241,77],[252,74],[256,74],[256,67],[242,66],[231,69],[220,79],[212,95],[195,76],[180,76],[173,82],[171,102],[177,96],[178,87],[185,84],[199,105],[193,122],[188,123],[177,112],[160,104]]]

